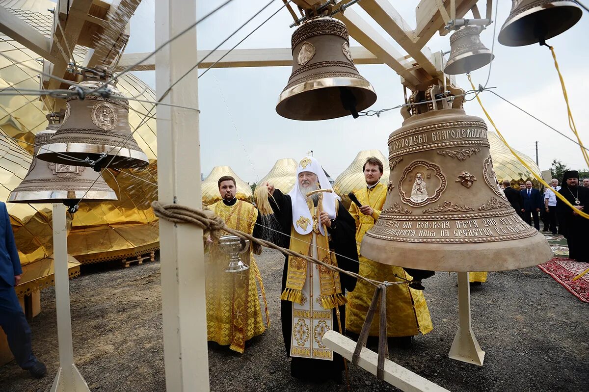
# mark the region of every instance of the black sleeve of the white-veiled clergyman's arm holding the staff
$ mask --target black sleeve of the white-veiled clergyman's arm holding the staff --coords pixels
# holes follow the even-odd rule
[[[336,253],[337,266],[342,270],[358,274],[360,263],[358,261],[358,249],[356,248],[356,222],[352,215],[339,202],[335,227],[329,230],[331,241],[329,247]],[[346,274],[339,274],[342,287],[346,291],[353,291],[356,287],[356,278]]]

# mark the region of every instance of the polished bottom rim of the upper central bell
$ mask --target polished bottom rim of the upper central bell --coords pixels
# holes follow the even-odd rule
[[[376,102],[376,91],[372,87],[369,81],[366,79],[360,78],[349,78],[349,77],[334,77],[334,78],[319,78],[313,79],[310,81],[305,81],[294,85],[293,87],[284,89],[279,97],[278,103],[276,105],[276,112],[281,117],[289,118],[289,119],[296,119],[296,120],[307,120],[306,118],[295,118],[287,114],[287,111],[284,110],[284,105],[286,105],[287,100],[290,98],[296,97],[296,95],[302,94],[303,92],[322,89],[322,88],[332,88],[332,87],[351,87],[351,88],[359,88],[369,92],[369,97],[366,102],[362,102],[361,106],[356,108],[357,111],[362,111],[370,106],[372,106]],[[370,94],[372,93],[372,94]],[[368,105],[366,105],[368,103]],[[337,117],[326,117],[320,119],[331,119],[331,118],[339,118],[339,117],[346,117],[349,114],[342,114]],[[315,119],[309,119],[313,121]]]

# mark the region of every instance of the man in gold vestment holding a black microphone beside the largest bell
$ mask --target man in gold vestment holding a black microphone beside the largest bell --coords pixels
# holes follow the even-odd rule
[[[358,207],[355,202],[350,205],[350,215],[356,221],[356,244],[360,253],[360,242],[366,231],[370,230],[378,219],[385,204],[388,188],[379,182],[382,177],[382,162],[376,157],[369,157],[362,170],[366,179],[366,187],[355,192],[356,198],[362,204]],[[394,250],[393,250],[394,253]],[[377,263],[359,256],[360,275],[377,281],[399,281],[398,277],[411,280],[401,267]],[[346,330],[359,334],[366,320],[366,313],[374,295],[374,287],[363,280],[359,280],[356,290],[348,295],[346,306]],[[413,290],[408,285],[391,285],[386,288],[386,324],[387,336],[401,346],[408,346],[412,336],[421,332],[426,334],[433,329],[429,317],[428,305],[419,290]],[[370,336],[378,336],[379,319],[375,317],[370,325]]]

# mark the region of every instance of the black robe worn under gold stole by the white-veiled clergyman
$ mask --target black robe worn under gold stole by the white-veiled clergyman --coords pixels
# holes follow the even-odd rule
[[[280,238],[267,238],[276,242],[284,248],[289,248],[290,245],[290,232],[293,225],[292,221],[292,203],[289,195],[284,195],[280,190],[274,190],[274,200],[269,198],[274,215],[280,224],[280,231],[283,235]],[[339,208],[337,209],[337,216],[335,218],[335,227],[333,230],[328,231],[331,240],[329,242],[330,249],[338,255],[345,257],[339,257],[336,255],[337,266],[342,270],[351,271],[358,273],[358,251],[356,250],[356,222],[352,218],[352,215],[346,210],[345,207],[339,202]],[[256,235],[256,231],[254,231]],[[350,260],[351,259],[351,260]],[[286,275],[287,275],[288,257],[284,260],[284,270],[282,273],[282,288],[281,293],[286,287]],[[356,287],[356,278],[350,277],[346,274],[340,274],[340,283],[342,285],[342,294],[346,291],[353,291]],[[339,307],[340,318],[342,321],[342,328],[345,328],[345,305]],[[286,355],[290,357],[290,341],[292,334],[292,302],[280,301],[280,318],[282,321],[282,336],[284,338],[284,347],[286,348]],[[333,308],[333,330],[338,331],[341,334],[345,334],[345,331],[339,331],[337,325],[337,314],[335,308]],[[329,378],[339,381],[342,377],[343,371],[343,359],[337,353],[333,353],[333,360],[320,360],[312,358],[300,358],[292,357],[290,364],[290,373],[293,377],[300,378],[303,380],[322,382]]]

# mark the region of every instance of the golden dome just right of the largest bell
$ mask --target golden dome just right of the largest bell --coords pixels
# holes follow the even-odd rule
[[[534,178],[534,175],[532,175],[532,173],[527,170],[527,168],[525,168],[525,166],[522,165],[513,154],[511,154],[509,148],[507,148],[505,143],[495,132],[489,131],[488,137],[489,144],[491,144],[493,169],[495,170],[499,182],[509,180],[511,185],[514,185],[524,184],[526,181],[531,181],[535,188],[540,187],[540,182],[538,182],[538,180]],[[538,168],[538,165],[532,160],[532,158],[517,150],[514,151],[517,152],[519,157],[535,172],[535,174],[541,177],[540,168]]]

